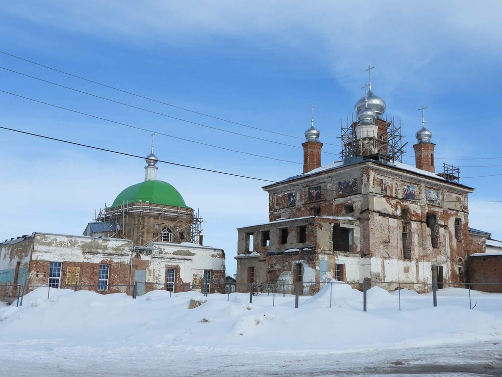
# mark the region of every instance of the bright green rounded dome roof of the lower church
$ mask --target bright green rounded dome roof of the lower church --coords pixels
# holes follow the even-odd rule
[[[190,208],[183,197],[172,185],[162,180],[146,180],[133,184],[123,190],[110,207],[121,206],[122,203],[150,202],[164,206]]]

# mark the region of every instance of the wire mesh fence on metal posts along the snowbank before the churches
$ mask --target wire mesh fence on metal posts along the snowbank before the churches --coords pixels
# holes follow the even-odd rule
[[[346,283],[284,281],[225,285],[221,280],[205,281],[199,285],[135,282],[134,285],[107,285],[105,290],[98,285],[61,285],[59,287],[25,285],[1,285],[0,299],[23,305],[24,296],[37,289],[47,289],[47,299],[56,295],[58,289],[94,291],[100,294],[122,293],[133,299],[152,291],[166,291],[173,295],[197,291],[204,296],[224,295],[226,301],[256,306],[283,306],[291,308],[352,308],[371,311],[412,311],[430,307],[456,306],[484,311],[502,310],[502,283],[410,283],[400,281],[370,281]],[[482,292],[479,288],[490,287],[497,293]],[[476,290],[476,288],[478,288]],[[7,291],[14,293],[5,294]],[[45,298],[45,293],[44,293]],[[14,305],[13,304],[13,305]]]

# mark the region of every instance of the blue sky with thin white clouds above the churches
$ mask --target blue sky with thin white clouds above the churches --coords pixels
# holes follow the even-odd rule
[[[464,177],[502,174],[500,120],[502,26],[499,2],[27,2],[0,6],[0,50],[180,107],[303,137],[311,104],[336,159],[340,119],[373,91],[403,124],[413,164],[417,109],[423,104],[436,164]],[[126,5],[124,5],[126,4]],[[138,3],[139,4],[139,3]],[[125,95],[0,54],[0,66],[115,101],[299,147],[302,140],[217,121]],[[39,101],[169,135],[261,154],[275,161],[159,135],[160,159],[280,180],[301,171],[302,150],[112,104],[0,69],[0,88]],[[2,124],[99,147],[145,155],[150,133],[0,93]],[[144,161],[0,131],[0,239],[33,231],[80,234],[94,209],[144,177]],[[329,154],[333,153],[333,154]],[[444,159],[443,159],[444,158]],[[439,169],[439,168],[438,168]],[[234,272],[235,228],[267,221],[258,181],[159,165],[207,221],[205,242],[225,249]],[[501,176],[464,178],[470,201],[499,201]],[[500,203],[471,203],[470,226],[502,238]]]

